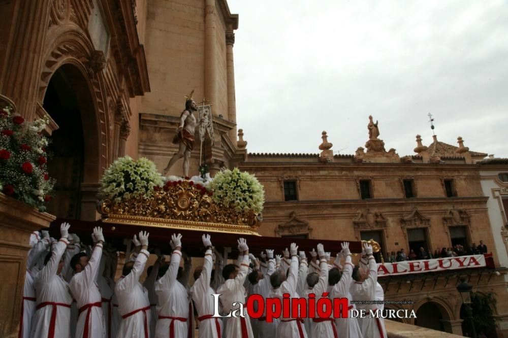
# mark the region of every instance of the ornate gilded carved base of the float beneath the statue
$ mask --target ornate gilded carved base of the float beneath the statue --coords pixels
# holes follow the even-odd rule
[[[252,210],[215,204],[209,192],[192,181],[173,183],[149,197],[104,199],[98,206],[103,222],[259,235],[260,219]]]

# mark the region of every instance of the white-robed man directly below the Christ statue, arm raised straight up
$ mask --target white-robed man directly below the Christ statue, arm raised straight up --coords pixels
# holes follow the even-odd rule
[[[187,289],[177,281],[177,278],[181,277],[178,276],[178,267],[182,258],[181,238],[181,234],[171,236],[171,247],[174,250],[168,270],[164,277],[155,282],[155,293],[158,299],[155,338],[185,338],[188,335],[188,293]]]

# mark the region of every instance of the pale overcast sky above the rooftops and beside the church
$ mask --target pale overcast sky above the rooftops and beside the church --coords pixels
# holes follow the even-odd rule
[[[238,128],[249,152],[354,154],[415,136],[508,157],[508,2],[228,0]]]

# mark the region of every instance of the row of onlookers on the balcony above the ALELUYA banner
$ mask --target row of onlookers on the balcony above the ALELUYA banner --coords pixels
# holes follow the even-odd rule
[[[483,241],[480,241],[480,244],[477,246],[476,243],[473,243],[471,246],[466,245],[465,247],[457,244],[450,248],[437,248],[434,252],[430,252],[425,250],[423,247],[420,250],[415,252],[413,249],[409,250],[409,253],[406,254],[404,249],[400,249],[400,251],[392,251],[388,253],[385,262],[387,263],[395,263],[401,262],[404,260],[419,260],[419,259],[433,259],[433,258],[446,258],[446,257],[457,257],[457,256],[467,256],[467,255],[481,255],[487,253],[487,246],[483,244]]]

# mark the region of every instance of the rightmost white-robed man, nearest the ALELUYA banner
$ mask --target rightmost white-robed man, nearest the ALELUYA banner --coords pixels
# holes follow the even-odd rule
[[[377,287],[377,264],[374,256],[372,255],[372,247],[364,244],[365,253],[368,256],[368,275],[364,279],[361,276],[360,268],[355,267],[353,269],[353,279],[355,283],[351,285],[350,291],[355,301],[375,300],[376,299],[376,287]],[[365,310],[366,318],[361,321],[361,330],[364,337],[372,338],[387,338],[386,329],[379,318],[371,318],[369,316],[370,310],[377,310],[376,304],[357,303],[356,307],[359,310]]]

